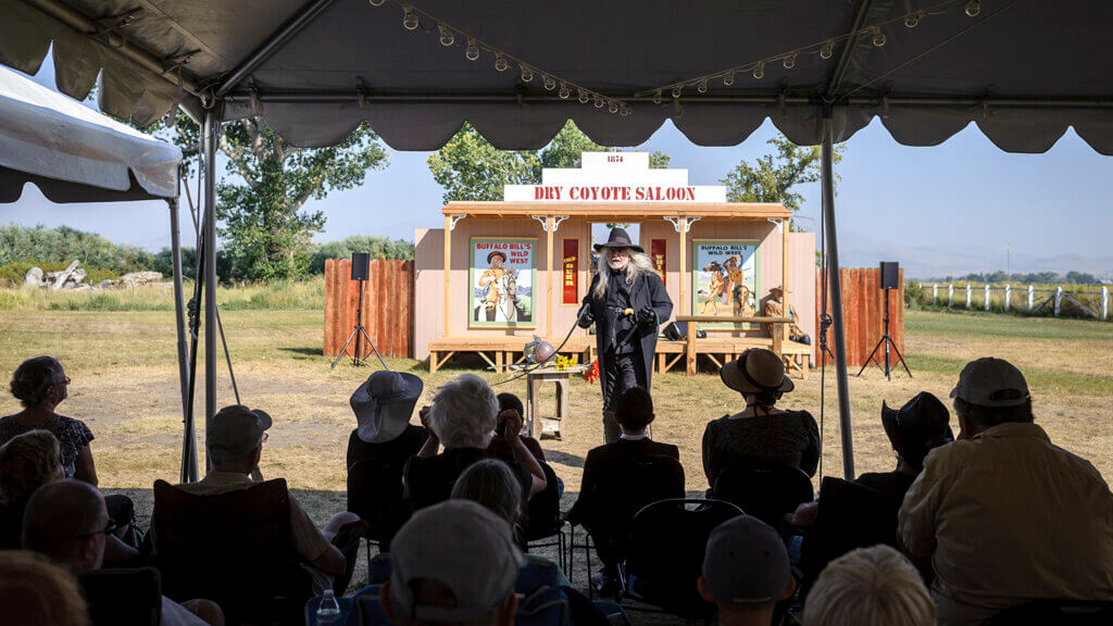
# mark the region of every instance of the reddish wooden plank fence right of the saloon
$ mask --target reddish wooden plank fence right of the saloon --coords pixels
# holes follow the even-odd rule
[[[816,273],[816,311],[823,306],[823,281],[827,270]],[[877,267],[843,267],[839,270],[843,278],[843,319],[846,329],[846,361],[849,368],[860,368],[869,352],[881,339],[885,315],[885,292],[880,288],[880,270]],[[830,311],[830,297],[827,311]],[[816,329],[819,327],[819,316],[816,316]],[[900,270],[900,288],[889,292],[889,336],[897,350],[905,354],[904,342],[904,270]],[[827,331],[827,344],[835,351],[835,331]],[[819,338],[814,338],[816,362],[818,363]],[[883,363],[885,349],[877,351],[877,362]],[[907,358],[907,354],[905,354]],[[889,358],[889,366],[897,363],[896,354]],[[899,366],[899,365],[898,365]],[[850,372],[855,373],[855,372]]]

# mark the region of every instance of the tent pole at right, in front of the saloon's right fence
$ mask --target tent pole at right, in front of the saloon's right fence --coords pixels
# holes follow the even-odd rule
[[[827,284],[830,285],[831,316],[835,329],[835,381],[838,388],[838,421],[843,434],[843,476],[854,480],[854,437],[850,431],[850,389],[846,372],[846,333],[843,330],[843,281],[838,268],[838,236],[835,234],[835,124],[830,107],[824,107],[823,184],[824,219],[827,222]]]

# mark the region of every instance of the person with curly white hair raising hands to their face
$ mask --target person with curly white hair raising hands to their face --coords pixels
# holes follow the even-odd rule
[[[423,418],[429,439],[403,472],[403,498],[412,510],[447,500],[452,487],[467,467],[485,458],[496,423],[499,403],[483,379],[464,374],[437,390],[433,405]],[[514,470],[522,486],[522,499],[545,488],[545,475],[536,458],[522,443],[521,417],[506,414],[506,440],[514,453]],[[440,454],[441,443],[444,452]]]

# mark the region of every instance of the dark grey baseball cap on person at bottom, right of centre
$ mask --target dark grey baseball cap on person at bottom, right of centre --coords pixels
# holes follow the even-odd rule
[[[720,603],[775,603],[791,576],[780,536],[756,517],[740,515],[717,526],[708,537],[703,581]]]

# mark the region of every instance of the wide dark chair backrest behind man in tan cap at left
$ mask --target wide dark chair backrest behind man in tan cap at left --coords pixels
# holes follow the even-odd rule
[[[249,604],[308,596],[290,530],[283,479],[215,496],[155,482],[151,529],[165,594]],[[303,597],[304,596],[304,597]]]

